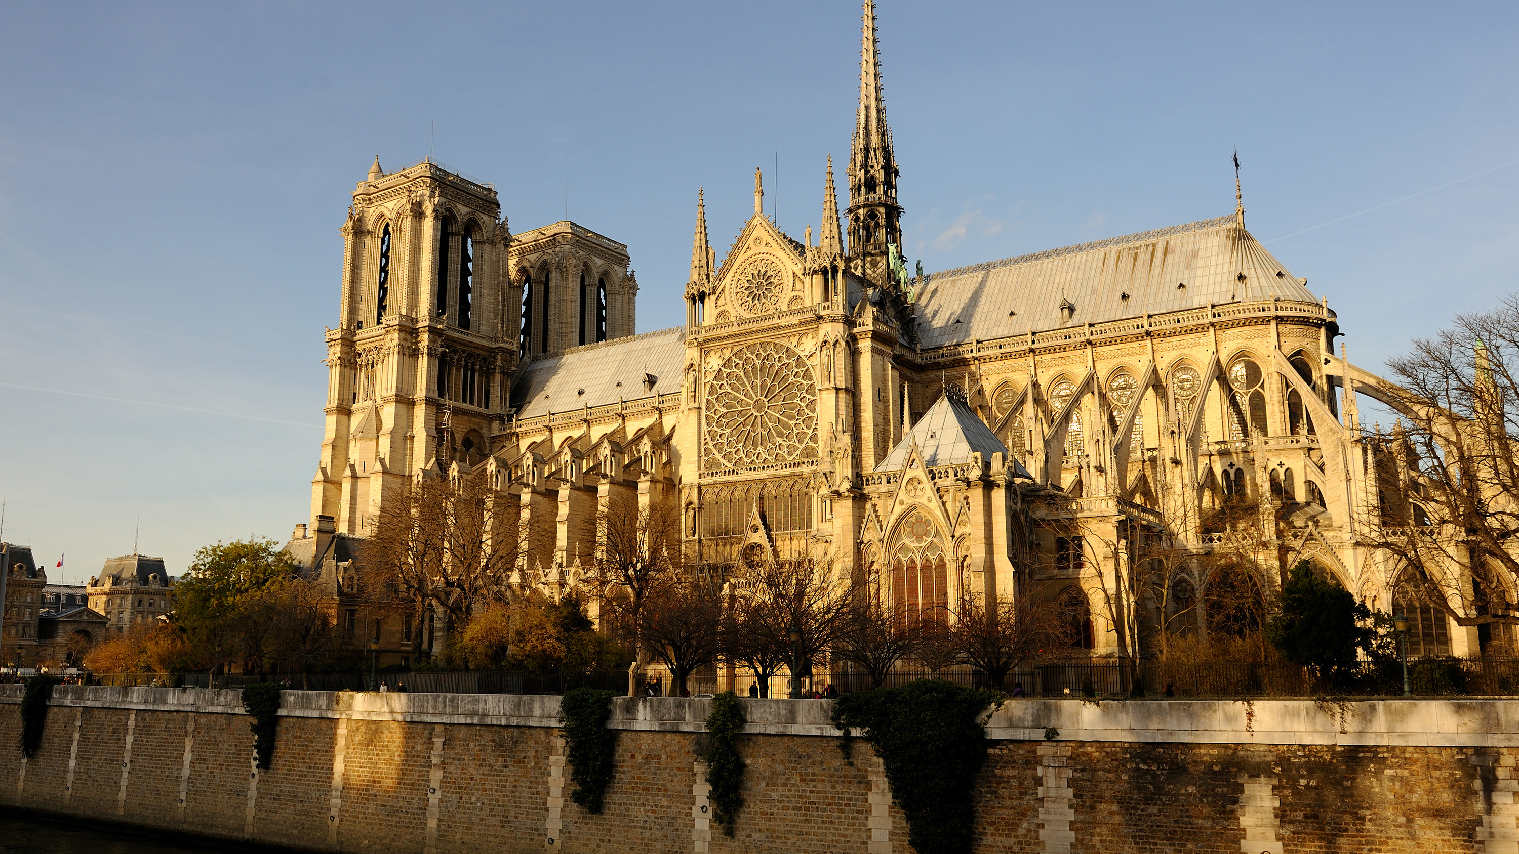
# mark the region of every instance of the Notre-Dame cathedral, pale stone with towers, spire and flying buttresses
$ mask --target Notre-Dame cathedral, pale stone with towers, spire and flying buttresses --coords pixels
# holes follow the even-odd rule
[[[1174,596],[1112,607],[1144,542],[1243,548],[1267,587],[1309,560],[1391,604],[1396,578],[1356,545],[1399,476],[1358,425],[1356,388],[1381,381],[1335,353],[1335,312],[1243,205],[910,272],[870,0],[843,179],[840,209],[829,158],[816,238],[796,240],[756,173],[722,256],[697,194],[687,322],[635,334],[626,246],[571,221],[510,234],[492,187],[377,159],[342,228],[327,429],[292,552],[333,576],[395,487],[485,467],[538,543],[512,584],[550,596],[576,587],[623,490],[681,513],[688,558],[814,555],[896,613],[1074,601],[1098,655],[1133,651],[1126,633],[1205,584],[1182,567],[1161,582]],[[1404,605],[1411,652],[1475,652],[1475,630]]]

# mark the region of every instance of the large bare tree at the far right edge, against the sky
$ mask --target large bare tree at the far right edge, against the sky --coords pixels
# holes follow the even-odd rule
[[[1360,385],[1404,419],[1364,440],[1379,476],[1361,545],[1391,557],[1401,596],[1457,625],[1519,623],[1519,294],[1457,316],[1388,367],[1396,385]]]

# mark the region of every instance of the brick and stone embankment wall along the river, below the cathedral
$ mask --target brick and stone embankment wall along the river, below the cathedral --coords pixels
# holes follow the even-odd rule
[[[286,692],[258,771],[235,690],[61,686],[24,761],[20,696],[0,686],[0,805],[316,851],[910,851],[826,701],[741,701],[726,837],[697,757],[708,701],[615,701],[592,816],[568,798],[557,698]],[[1519,851],[1519,701],[1024,699],[987,733],[981,852]]]

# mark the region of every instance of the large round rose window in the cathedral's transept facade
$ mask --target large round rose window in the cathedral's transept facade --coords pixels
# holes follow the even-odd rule
[[[801,353],[775,341],[735,350],[712,373],[703,411],[711,467],[817,458],[817,381]]]

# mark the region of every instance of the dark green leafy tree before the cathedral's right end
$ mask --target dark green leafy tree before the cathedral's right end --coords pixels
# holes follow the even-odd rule
[[[1370,617],[1349,590],[1297,561],[1265,636],[1284,658],[1312,667],[1329,687],[1338,673],[1355,667],[1363,646],[1370,648],[1373,633],[1364,625]]]

